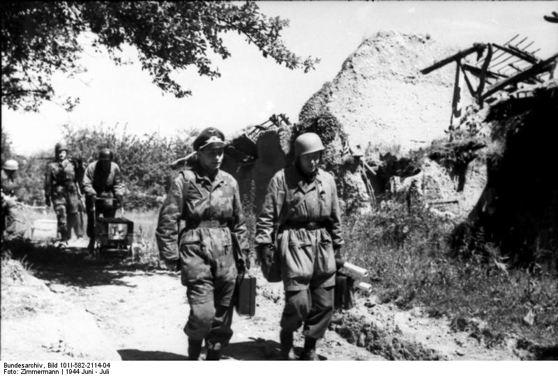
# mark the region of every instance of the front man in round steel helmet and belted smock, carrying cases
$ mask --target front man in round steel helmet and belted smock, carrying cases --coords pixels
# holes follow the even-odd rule
[[[300,359],[318,360],[316,343],[333,315],[335,259],[343,241],[335,180],[319,168],[322,152],[324,145],[317,134],[296,138],[294,166],[282,169],[269,182],[256,224],[255,242],[264,276],[271,275],[276,260],[285,287],[280,320],[285,360],[296,359],[293,332],[301,326],[305,343]]]

